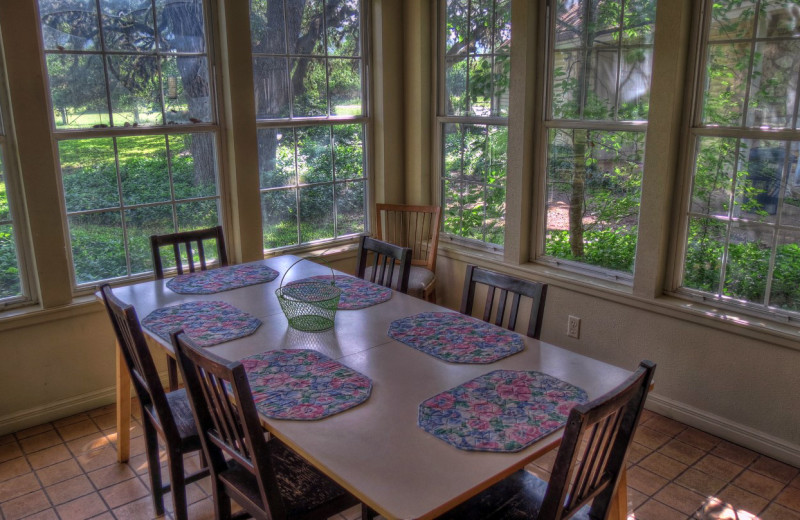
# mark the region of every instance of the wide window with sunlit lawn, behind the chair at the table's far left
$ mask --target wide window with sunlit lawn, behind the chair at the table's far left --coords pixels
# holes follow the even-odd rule
[[[202,0],[39,0],[75,283],[152,270],[148,237],[217,225]]]

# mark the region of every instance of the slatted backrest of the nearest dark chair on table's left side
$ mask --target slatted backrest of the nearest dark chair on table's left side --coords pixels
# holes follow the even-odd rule
[[[268,516],[285,518],[270,447],[244,366],[204,350],[183,331],[172,334],[172,344],[212,476],[216,479],[228,468],[226,457],[234,460],[258,482]]]

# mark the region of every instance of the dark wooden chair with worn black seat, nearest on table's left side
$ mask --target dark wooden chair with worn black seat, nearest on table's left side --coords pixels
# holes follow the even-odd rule
[[[288,446],[265,439],[240,362],[198,347],[182,332],[172,342],[210,463],[217,520],[231,517],[231,499],[264,520],[326,519],[358,504]]]

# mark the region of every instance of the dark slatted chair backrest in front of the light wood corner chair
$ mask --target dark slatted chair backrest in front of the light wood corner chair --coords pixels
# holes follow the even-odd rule
[[[369,262],[369,257],[372,262]],[[367,276],[367,266],[371,270]],[[395,275],[397,266],[397,275]],[[356,276],[370,282],[392,287],[402,293],[408,292],[408,275],[411,271],[411,249],[362,236],[358,243]],[[396,280],[393,284],[392,282]]]

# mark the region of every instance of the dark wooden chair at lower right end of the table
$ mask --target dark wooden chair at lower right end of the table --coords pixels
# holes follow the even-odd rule
[[[440,519],[602,519],[612,508],[625,508],[612,498],[624,485],[625,455],[655,368],[642,361],[616,389],[572,409],[549,483],[520,470]]]

